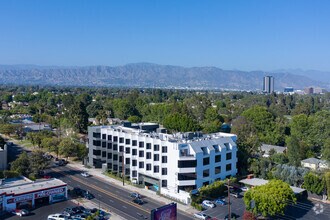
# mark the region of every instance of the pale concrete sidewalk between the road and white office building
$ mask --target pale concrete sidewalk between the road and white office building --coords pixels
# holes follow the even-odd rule
[[[144,189],[144,188],[138,188],[138,187],[135,187],[135,186],[126,184],[126,183],[125,183],[125,186],[123,186],[122,181],[113,179],[111,177],[108,177],[108,176],[102,174],[102,171],[100,169],[92,169],[92,168],[89,169],[89,168],[86,168],[82,164],[79,164],[77,162],[71,162],[71,161],[70,161],[69,164],[67,164],[67,166],[69,166],[71,168],[75,168],[75,169],[86,171],[89,174],[91,174],[91,175],[93,175],[93,176],[95,176],[95,177],[97,177],[99,179],[102,179],[105,182],[114,184],[117,187],[125,188],[127,190],[127,193],[129,193],[129,192],[136,192],[136,193],[139,193],[141,195],[150,197],[150,198],[152,198],[152,199],[154,199],[156,201],[159,201],[159,202],[163,203],[164,205],[169,204],[171,202],[176,202],[176,201],[172,201],[172,200],[170,200],[168,198],[165,198],[163,196],[157,195],[156,192],[153,192],[153,191],[150,191],[150,190],[147,190],[147,189]],[[191,207],[189,205],[183,205],[181,203],[177,203],[177,208],[179,210],[183,211],[183,212],[186,212],[189,215],[193,215],[194,213],[197,212],[193,207]]]

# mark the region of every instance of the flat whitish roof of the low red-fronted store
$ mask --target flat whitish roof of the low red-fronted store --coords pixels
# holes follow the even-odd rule
[[[65,182],[56,178],[41,181],[31,181],[24,178],[24,180],[12,180],[9,184],[7,184],[6,180],[5,183],[0,187],[0,195],[4,193],[19,195],[32,191],[42,190],[45,188],[47,189],[66,185],[67,184]]]

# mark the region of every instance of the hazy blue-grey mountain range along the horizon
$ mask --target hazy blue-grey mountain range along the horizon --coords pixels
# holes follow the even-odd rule
[[[140,88],[190,88],[223,90],[261,90],[266,75],[275,78],[275,89],[303,89],[308,86],[330,88],[330,73],[319,72],[325,78],[311,79],[312,72],[299,70],[240,71],[217,67],[181,67],[152,63],[123,66],[36,66],[0,65],[2,85],[54,85]],[[322,74],[321,74],[322,73]],[[319,81],[318,81],[318,80]]]

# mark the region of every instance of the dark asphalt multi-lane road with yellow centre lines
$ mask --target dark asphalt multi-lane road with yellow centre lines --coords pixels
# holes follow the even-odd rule
[[[83,177],[81,171],[71,167],[55,167],[49,171],[52,177],[59,178],[71,187],[79,187],[88,190],[95,196],[95,202],[101,202],[116,214],[126,219],[150,219],[150,211],[165,205],[149,197],[143,197],[145,204],[133,203],[129,197],[130,192],[125,189],[103,182],[97,177]],[[192,219],[187,213],[178,210],[178,219]]]

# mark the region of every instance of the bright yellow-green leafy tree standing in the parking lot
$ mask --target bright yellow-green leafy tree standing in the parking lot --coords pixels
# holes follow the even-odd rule
[[[244,194],[246,209],[255,215],[274,216],[284,214],[289,202],[296,202],[296,198],[289,184],[281,180],[271,180],[262,186],[256,186]],[[254,204],[254,206],[251,206]]]

